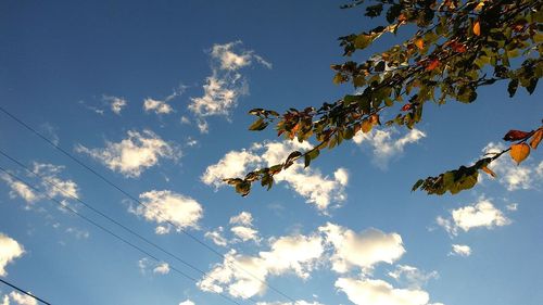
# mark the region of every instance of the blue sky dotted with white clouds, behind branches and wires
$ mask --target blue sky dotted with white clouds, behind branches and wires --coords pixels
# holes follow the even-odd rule
[[[0,175],[0,277],[52,304],[229,304],[217,291],[261,305],[541,304],[538,151],[520,166],[503,157],[496,179],[458,195],[411,192],[536,126],[539,90],[509,99],[497,84],[470,105],[428,105],[416,129],[357,135],[269,192],[242,199],[219,183],[310,145],[248,131],[249,110],[353,91],[331,81],[337,38],[375,24],[339,4],[0,3],[1,106],[144,204],[0,113],[0,150],[39,175],[0,156],[39,189]],[[382,41],[361,58],[394,38]],[[0,287],[0,304],[34,303]]]

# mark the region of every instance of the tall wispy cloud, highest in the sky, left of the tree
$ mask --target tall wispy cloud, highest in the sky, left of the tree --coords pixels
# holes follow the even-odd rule
[[[253,62],[270,68],[254,51],[243,50],[241,41],[214,45],[211,50],[212,75],[205,78],[203,96],[191,98],[189,110],[197,116],[200,131],[207,132],[205,117],[228,116],[238,104],[238,99],[249,93],[245,77],[239,72]]]

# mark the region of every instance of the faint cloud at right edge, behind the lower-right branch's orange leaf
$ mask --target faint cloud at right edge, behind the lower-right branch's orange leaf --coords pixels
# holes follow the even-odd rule
[[[492,154],[500,153],[506,147],[502,143],[490,142],[482,151],[485,154]],[[505,186],[508,191],[532,189],[535,180],[543,178],[543,162],[539,167],[531,166],[526,162],[522,165],[517,165],[510,157],[503,156],[493,161],[490,167],[497,174],[500,183]],[[534,167],[535,169],[533,169]]]

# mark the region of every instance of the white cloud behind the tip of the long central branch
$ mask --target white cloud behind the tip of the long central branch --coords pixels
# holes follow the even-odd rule
[[[201,179],[206,185],[225,186],[224,178],[239,177],[249,169],[262,166],[273,166],[296,150],[308,150],[311,144],[298,141],[254,143],[249,150],[228,152],[218,163],[206,168]],[[294,163],[287,170],[275,175],[276,182],[285,181],[289,188],[326,213],[332,202],[346,199],[345,186],[349,174],[344,168],[338,168],[333,177],[323,176],[317,168],[304,168],[301,163]]]

